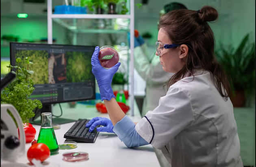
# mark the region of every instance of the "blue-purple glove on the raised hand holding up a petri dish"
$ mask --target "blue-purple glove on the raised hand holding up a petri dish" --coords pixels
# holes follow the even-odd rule
[[[93,56],[91,57],[91,66],[92,66],[91,71],[98,82],[101,100],[110,101],[111,98],[115,98],[113,90],[111,88],[113,75],[117,72],[121,63],[118,62],[117,64],[115,64],[115,66],[113,66],[110,69],[104,69],[101,66],[100,60],[98,58],[99,51],[100,51],[100,48],[98,46],[95,47]]]

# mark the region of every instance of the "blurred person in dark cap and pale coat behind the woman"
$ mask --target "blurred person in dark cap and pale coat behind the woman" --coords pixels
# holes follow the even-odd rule
[[[161,16],[177,9],[187,9],[187,7],[184,4],[172,2],[166,4],[159,14]],[[159,99],[167,93],[167,89],[164,86],[174,74],[163,71],[163,66],[160,64],[159,58],[155,56],[156,52],[148,53],[148,47],[140,35],[134,39],[134,42],[134,67],[146,82],[145,97],[141,112],[141,116],[143,117],[148,111],[152,111],[158,106]],[[154,152],[161,167],[171,167],[161,150],[154,148]]]

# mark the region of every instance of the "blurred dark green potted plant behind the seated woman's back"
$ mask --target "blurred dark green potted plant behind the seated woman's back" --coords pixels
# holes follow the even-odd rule
[[[230,100],[234,107],[244,107],[246,97],[255,92],[255,42],[250,42],[247,34],[237,49],[220,45],[215,55],[230,76]]]

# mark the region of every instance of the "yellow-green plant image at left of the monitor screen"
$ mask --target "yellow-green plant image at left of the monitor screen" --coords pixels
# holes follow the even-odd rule
[[[29,70],[33,70],[32,79],[34,84],[48,84],[48,51],[44,50],[15,50],[15,58],[25,60],[30,57],[33,64]],[[20,62],[21,67],[25,67],[24,61]]]

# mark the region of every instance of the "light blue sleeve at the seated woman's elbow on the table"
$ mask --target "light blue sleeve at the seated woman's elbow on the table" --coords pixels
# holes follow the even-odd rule
[[[135,123],[128,116],[117,122],[113,131],[128,148],[149,144],[137,133]]]

